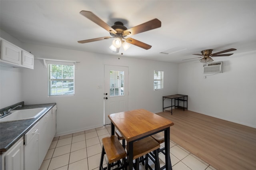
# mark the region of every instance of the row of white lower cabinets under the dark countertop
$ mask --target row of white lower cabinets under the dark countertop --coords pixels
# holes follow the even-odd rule
[[[10,149],[0,155],[0,170],[38,170],[56,134],[55,105]]]

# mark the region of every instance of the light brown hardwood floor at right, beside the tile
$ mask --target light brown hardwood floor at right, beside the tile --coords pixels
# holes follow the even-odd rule
[[[173,109],[170,139],[220,170],[256,170],[256,128]]]

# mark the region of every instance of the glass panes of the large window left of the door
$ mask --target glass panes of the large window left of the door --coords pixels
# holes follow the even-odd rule
[[[74,64],[48,64],[48,96],[74,95]]]

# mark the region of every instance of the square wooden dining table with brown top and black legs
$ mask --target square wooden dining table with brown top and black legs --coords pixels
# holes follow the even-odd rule
[[[111,121],[111,135],[115,128],[127,142],[128,170],[133,168],[133,142],[164,131],[165,153],[170,153],[170,126],[172,121],[145,109],[137,109],[108,115]],[[172,170],[170,154],[165,154],[166,170]]]

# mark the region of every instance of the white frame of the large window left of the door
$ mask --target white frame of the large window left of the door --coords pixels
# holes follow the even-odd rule
[[[74,62],[63,62],[63,61],[47,61],[47,78],[48,78],[48,97],[57,97],[57,96],[74,96],[75,95],[75,64]],[[74,76],[73,79],[50,79],[50,72],[49,72],[49,65],[73,65],[73,71],[74,71]],[[73,93],[71,94],[60,94],[60,95],[50,95],[50,81],[51,80],[58,80],[58,81],[73,81]]]

